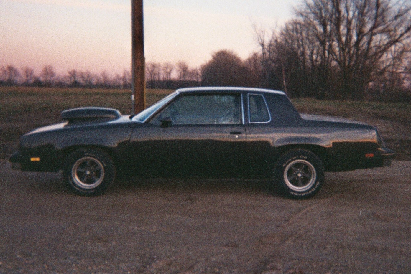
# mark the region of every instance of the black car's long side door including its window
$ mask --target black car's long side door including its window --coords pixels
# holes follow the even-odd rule
[[[133,158],[150,173],[238,176],[245,156],[242,117],[239,93],[181,94],[134,129]]]

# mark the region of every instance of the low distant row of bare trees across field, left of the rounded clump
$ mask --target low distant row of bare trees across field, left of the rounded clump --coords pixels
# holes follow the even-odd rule
[[[171,64],[149,62],[145,67],[146,85],[150,88],[179,88],[198,86],[201,83],[198,69],[190,68],[185,62]],[[58,75],[52,65],[44,65],[39,74],[30,67],[16,68],[14,65],[0,67],[0,86],[26,85],[36,87],[99,87],[131,88],[132,75],[124,70],[111,76],[106,71],[92,73],[72,69]]]

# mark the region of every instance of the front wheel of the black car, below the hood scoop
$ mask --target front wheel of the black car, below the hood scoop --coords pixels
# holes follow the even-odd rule
[[[97,148],[81,148],[68,154],[63,176],[67,185],[79,195],[104,193],[115,179],[113,159]]]

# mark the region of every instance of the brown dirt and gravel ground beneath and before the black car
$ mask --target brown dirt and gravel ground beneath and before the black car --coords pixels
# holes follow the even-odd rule
[[[130,179],[72,194],[0,160],[0,273],[411,273],[411,162],[327,173],[309,200],[265,180]]]

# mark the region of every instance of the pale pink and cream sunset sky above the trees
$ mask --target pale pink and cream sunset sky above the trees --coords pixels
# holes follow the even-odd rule
[[[298,0],[145,0],[147,62],[207,62],[230,49],[258,51],[253,23],[268,30],[292,15]],[[0,0],[0,66],[44,64],[121,73],[131,67],[130,0]]]

